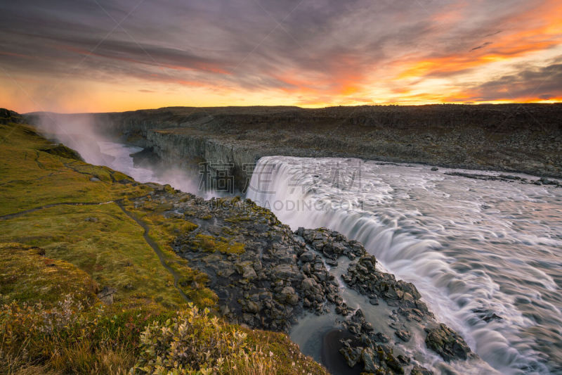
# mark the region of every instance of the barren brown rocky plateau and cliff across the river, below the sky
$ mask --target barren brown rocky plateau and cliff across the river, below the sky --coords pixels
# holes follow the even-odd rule
[[[38,122],[40,114],[27,116]],[[65,121],[68,115],[50,115]],[[72,115],[76,118],[76,115]],[[79,115],[168,163],[356,157],[562,177],[562,105],[171,107]],[[43,116],[45,118],[45,116]],[[241,188],[240,188],[241,189]]]

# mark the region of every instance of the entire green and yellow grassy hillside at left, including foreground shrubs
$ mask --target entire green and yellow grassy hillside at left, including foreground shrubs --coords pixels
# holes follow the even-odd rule
[[[282,333],[212,317],[207,275],[169,246],[196,224],[129,200],[169,186],[9,121],[0,158],[0,374],[325,374]]]

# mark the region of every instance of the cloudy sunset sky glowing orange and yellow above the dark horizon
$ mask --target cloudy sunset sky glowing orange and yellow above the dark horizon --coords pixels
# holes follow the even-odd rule
[[[0,107],[562,101],[560,0],[0,3]]]

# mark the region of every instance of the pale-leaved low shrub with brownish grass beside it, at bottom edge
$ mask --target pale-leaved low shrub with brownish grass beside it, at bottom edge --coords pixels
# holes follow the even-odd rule
[[[327,374],[287,336],[261,331],[248,339],[251,332],[190,305],[173,319],[147,326],[131,374]]]

